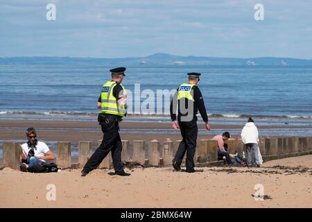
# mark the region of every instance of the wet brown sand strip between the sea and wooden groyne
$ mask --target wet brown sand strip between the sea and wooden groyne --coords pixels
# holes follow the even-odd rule
[[[200,122],[199,122],[200,123]],[[25,130],[28,127],[37,129],[39,139],[45,141],[92,141],[97,144],[98,139],[102,139],[103,134],[97,121],[45,121],[45,120],[0,120],[0,140],[24,140]],[[157,139],[160,142],[165,141],[166,138],[172,140],[181,139],[180,131],[171,128],[171,123],[148,123],[148,122],[121,122],[122,129],[133,130],[148,130],[151,129],[166,129],[172,130],[172,133],[121,133],[121,139],[128,139],[132,142],[135,139],[144,139],[150,141]],[[203,124],[198,124],[199,129],[204,129]],[[243,125],[215,125],[211,128],[220,130],[241,129]],[[290,128],[286,126],[259,126],[261,128]],[[233,135],[237,137],[238,135]],[[210,135],[198,135],[200,139],[209,139]]]

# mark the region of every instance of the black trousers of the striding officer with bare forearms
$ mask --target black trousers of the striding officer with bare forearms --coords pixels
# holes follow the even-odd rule
[[[103,140],[100,146],[96,149],[88,162],[83,167],[83,171],[89,173],[101,164],[103,159],[110,151],[112,152],[112,161],[115,172],[123,172],[123,163],[121,162],[121,151],[123,145],[119,135],[119,121],[117,117],[108,116],[106,121],[101,122],[103,132]]]

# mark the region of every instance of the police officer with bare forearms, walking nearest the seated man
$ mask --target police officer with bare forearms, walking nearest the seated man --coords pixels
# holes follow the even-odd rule
[[[123,170],[123,163],[121,162],[123,146],[119,135],[119,122],[127,113],[127,95],[125,88],[121,85],[125,76],[125,68],[119,67],[110,69],[110,71],[112,72],[112,80],[103,85],[97,103],[97,107],[101,109],[101,113],[98,114],[98,122],[103,131],[103,141],[83,167],[81,176],[86,176],[87,173],[96,169],[110,151],[112,152],[115,174],[130,176],[130,173],[125,173]]]

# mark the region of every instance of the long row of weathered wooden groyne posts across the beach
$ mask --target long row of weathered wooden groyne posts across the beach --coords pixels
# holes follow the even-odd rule
[[[125,163],[138,162],[150,167],[170,166],[173,155],[177,151],[181,140],[159,142],[156,139],[146,142],[144,140],[130,142],[122,140],[123,151],[121,160]],[[225,142],[229,153],[239,152],[242,155],[245,146],[241,139],[229,139]],[[101,140],[98,141],[98,145]],[[264,161],[276,160],[285,157],[312,154],[312,137],[279,137],[259,139],[259,149]],[[214,140],[202,139],[196,147],[194,162],[197,167],[209,166],[218,163],[218,145]],[[246,153],[246,151],[245,151]],[[19,169],[19,155],[21,146],[15,142],[3,142],[4,167]],[[57,164],[62,169],[82,168],[92,155],[92,142],[78,142],[78,162],[71,162],[71,142],[58,142],[56,147]],[[184,157],[185,162],[185,157]],[[109,153],[99,168],[112,168],[112,155]]]

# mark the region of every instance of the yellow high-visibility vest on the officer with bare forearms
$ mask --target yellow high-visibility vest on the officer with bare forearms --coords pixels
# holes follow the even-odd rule
[[[125,117],[127,113],[127,105],[119,105],[116,97],[113,95],[113,89],[117,84],[114,81],[107,81],[101,92],[101,113],[115,114],[120,117]],[[120,84],[121,85],[121,84]],[[126,96],[125,88],[123,88],[123,95]]]

